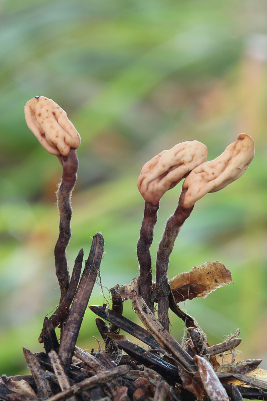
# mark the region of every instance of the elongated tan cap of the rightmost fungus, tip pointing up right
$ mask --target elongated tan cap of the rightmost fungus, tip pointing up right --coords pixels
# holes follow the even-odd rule
[[[214,160],[195,167],[183,182],[183,207],[191,208],[208,192],[216,192],[239,178],[254,157],[254,141],[251,136],[240,134]]]

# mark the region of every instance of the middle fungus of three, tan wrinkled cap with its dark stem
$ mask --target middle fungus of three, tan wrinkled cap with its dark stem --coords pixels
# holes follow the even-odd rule
[[[159,200],[168,189],[173,188],[194,167],[206,160],[206,157],[207,148],[203,143],[178,143],[148,161],[139,175],[137,186],[145,199],[144,218],[137,244],[140,292],[152,312],[154,308],[151,300],[152,266],[149,249],[153,241]]]

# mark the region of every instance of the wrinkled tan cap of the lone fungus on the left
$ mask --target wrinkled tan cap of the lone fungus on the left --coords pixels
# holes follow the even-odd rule
[[[29,129],[51,154],[68,156],[77,149],[81,138],[64,111],[53,100],[37,96],[25,105],[25,119]]]

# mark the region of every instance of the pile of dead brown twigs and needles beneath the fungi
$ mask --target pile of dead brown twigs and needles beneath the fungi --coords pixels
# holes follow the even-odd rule
[[[171,290],[170,307],[185,322],[188,329],[186,348],[163,328],[143,298],[138,295],[138,286],[136,291],[132,291],[131,297],[134,310],[146,329],[123,316],[123,300],[114,288],[111,291],[112,309],[107,309],[106,306],[90,306],[99,316],[96,324],[105,342],[105,350],[92,350],[88,353],[77,347],[79,329],[99,272],[103,245],[102,235],[96,234],[64,325],[60,344],[54,326],[66,317],[62,312],[66,310],[64,298],[58,308],[57,320],[55,314],[51,318],[45,318],[41,337],[46,352],[33,354],[24,348],[31,374],[2,376],[0,398],[11,401],[96,401],[103,398],[115,401],[178,401],[196,398],[224,400],[229,399],[223,398],[224,393],[221,391],[225,390],[227,397],[233,401],[243,399],[242,397],[267,399],[267,383],[246,374],[248,370],[257,366],[260,360],[243,361],[243,364],[239,365],[231,364],[229,371],[216,372],[218,363],[214,355],[234,349],[241,339],[232,338],[208,346],[205,335],[194,319],[179,308]],[[75,261],[71,283],[79,276],[82,260],[83,255],[80,251]],[[124,337],[119,335],[120,329],[134,336],[139,345],[121,339]],[[140,346],[140,342],[146,344],[148,349]],[[205,358],[207,364],[203,367],[198,358]],[[209,377],[211,393],[213,391],[217,394],[219,391],[222,395],[216,395],[214,398],[211,393],[207,393],[203,374]],[[238,379],[239,385],[230,384],[229,378]],[[241,382],[251,384],[252,387],[244,387]]]

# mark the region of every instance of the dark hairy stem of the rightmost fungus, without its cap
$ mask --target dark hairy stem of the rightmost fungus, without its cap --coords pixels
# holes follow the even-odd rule
[[[158,300],[158,319],[165,330],[169,331],[169,284],[168,284],[168,266],[170,254],[173,250],[174,242],[185,220],[190,216],[193,207],[185,209],[183,199],[187,189],[184,189],[180,195],[179,203],[174,214],[167,220],[166,227],[160,241],[157,259],[156,259],[156,295]]]

